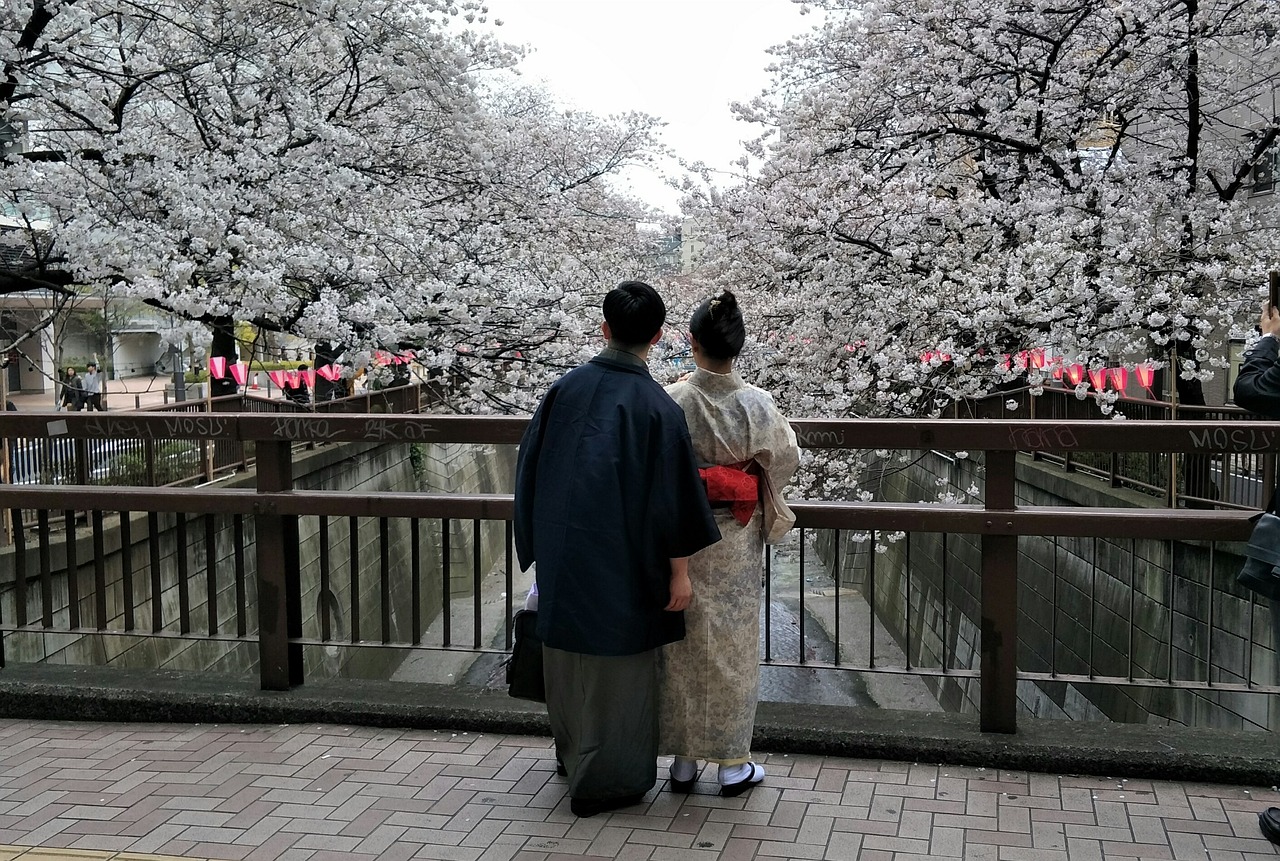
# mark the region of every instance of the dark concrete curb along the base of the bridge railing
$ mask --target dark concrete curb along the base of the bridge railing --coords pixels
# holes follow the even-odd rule
[[[22,664],[0,670],[0,716],[145,723],[326,723],[549,736],[543,705],[500,691],[325,679],[261,691],[252,677]],[[1111,778],[1272,786],[1271,733],[1024,718],[982,733],[943,713],[763,702],[760,751]]]

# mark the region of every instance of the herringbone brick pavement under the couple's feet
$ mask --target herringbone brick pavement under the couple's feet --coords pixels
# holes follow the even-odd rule
[[[691,796],[662,782],[641,805],[576,819],[547,738],[0,720],[0,861],[1280,855],[1256,815],[1280,805],[1274,787],[760,760],[768,779],[739,798],[708,773]]]

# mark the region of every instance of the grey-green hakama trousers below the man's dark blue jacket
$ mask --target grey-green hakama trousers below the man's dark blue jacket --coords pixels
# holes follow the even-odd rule
[[[658,650],[600,658],[543,646],[547,714],[571,798],[640,796],[658,782]]]

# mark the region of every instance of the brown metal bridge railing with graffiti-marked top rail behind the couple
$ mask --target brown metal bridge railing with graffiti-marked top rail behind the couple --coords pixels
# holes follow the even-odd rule
[[[325,672],[334,650],[506,649],[521,592],[509,495],[298,490],[293,464],[312,443],[512,445],[525,420],[280,418],[70,415],[65,434],[49,438],[46,417],[0,416],[9,439],[205,441],[256,455],[252,489],[0,487],[0,509],[36,512],[0,553],[6,655],[56,647],[59,660],[109,660],[124,649],[116,641],[152,644],[142,651],[195,641],[211,650],[210,667],[256,668],[265,688],[285,688]],[[1016,503],[1019,455],[1236,454],[1236,441],[1212,432],[1216,422],[794,426],[813,449],[938,453],[942,467],[946,453],[969,452],[980,503],[796,500],[799,576],[771,557],[768,599],[797,605],[800,640],[782,645],[767,627],[767,664],[919,678],[947,707],[972,706],[987,731],[1014,731],[1020,709],[1038,713],[1065,687],[1108,691],[1098,702],[1111,705],[1097,709],[1116,719],[1146,707],[1183,720],[1212,702],[1226,722],[1274,728],[1258,697],[1280,692],[1274,608],[1229,576],[1249,512],[1171,509],[1155,498],[1146,509]],[[1275,439],[1280,425],[1258,430]],[[829,617],[833,654],[815,646],[815,614]],[[493,626],[498,640],[481,637]],[[872,635],[863,651],[844,644],[852,628]],[[877,645],[881,632],[900,654]]]

